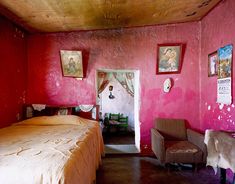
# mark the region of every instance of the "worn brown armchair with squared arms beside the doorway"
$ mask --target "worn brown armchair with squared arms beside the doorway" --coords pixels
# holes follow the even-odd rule
[[[161,164],[206,162],[204,135],[185,127],[182,119],[156,119],[151,129],[152,150]]]

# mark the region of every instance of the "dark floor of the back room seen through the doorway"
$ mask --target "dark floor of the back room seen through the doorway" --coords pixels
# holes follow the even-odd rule
[[[133,132],[103,133],[104,144],[135,144]]]

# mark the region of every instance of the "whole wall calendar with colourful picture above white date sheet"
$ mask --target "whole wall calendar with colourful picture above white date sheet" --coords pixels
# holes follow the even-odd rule
[[[217,103],[232,103],[232,52],[232,45],[227,45],[218,50]]]

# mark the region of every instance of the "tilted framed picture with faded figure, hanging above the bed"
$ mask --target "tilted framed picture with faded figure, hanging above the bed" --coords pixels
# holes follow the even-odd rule
[[[63,76],[83,78],[83,64],[81,51],[61,50],[61,65]]]

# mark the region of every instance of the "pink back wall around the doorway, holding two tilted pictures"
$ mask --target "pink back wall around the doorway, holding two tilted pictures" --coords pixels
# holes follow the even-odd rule
[[[34,34],[28,39],[28,103],[54,105],[96,102],[97,69],[140,70],[141,151],[150,153],[150,128],[156,117],[185,118],[199,126],[198,23],[144,28]],[[181,74],[156,75],[158,43],[185,43]],[[62,76],[59,51],[83,50],[87,77],[78,81]],[[174,87],[162,90],[171,77]]]

